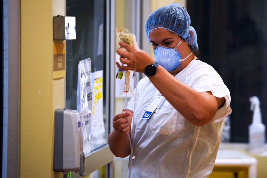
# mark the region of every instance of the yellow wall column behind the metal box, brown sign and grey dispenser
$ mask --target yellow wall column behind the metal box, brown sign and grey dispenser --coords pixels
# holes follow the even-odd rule
[[[64,78],[53,80],[53,16],[64,0],[20,0],[18,177],[63,177],[53,171],[54,110],[64,107]]]

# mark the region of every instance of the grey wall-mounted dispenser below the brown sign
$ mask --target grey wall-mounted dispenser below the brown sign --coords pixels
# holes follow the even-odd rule
[[[83,135],[80,114],[76,110],[55,111],[54,170],[65,173],[79,171],[81,176],[85,176]]]

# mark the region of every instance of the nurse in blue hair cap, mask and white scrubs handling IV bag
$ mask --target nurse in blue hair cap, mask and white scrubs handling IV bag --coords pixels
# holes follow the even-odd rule
[[[146,34],[155,60],[119,43],[127,49],[117,49],[126,65],[117,67],[147,76],[113,118],[108,137],[115,156],[135,157],[130,177],[208,177],[214,167],[231,96],[213,67],[195,56],[197,33],[190,23],[178,3],[150,14]]]

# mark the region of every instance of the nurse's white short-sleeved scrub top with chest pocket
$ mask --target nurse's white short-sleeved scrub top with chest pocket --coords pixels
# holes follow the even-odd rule
[[[200,178],[208,177],[214,167],[224,118],[232,111],[230,91],[213,67],[199,60],[191,61],[175,77],[198,92],[211,91],[218,98],[224,97],[225,104],[211,122],[200,127],[187,121],[167,100],[157,114],[142,119],[147,104],[159,91],[148,77],[141,79],[136,100],[131,98],[127,107],[134,112],[131,177]]]

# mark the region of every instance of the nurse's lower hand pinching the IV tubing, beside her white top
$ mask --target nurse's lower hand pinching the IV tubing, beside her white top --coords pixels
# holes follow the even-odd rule
[[[118,134],[125,134],[129,133],[130,131],[130,124],[129,124],[129,117],[131,114],[127,112],[126,109],[123,109],[123,112],[120,114],[117,114],[113,118],[113,128]]]

